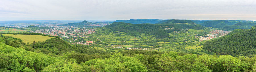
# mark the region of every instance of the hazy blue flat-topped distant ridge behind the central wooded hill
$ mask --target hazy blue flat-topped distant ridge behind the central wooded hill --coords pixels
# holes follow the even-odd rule
[[[159,21],[158,19],[130,19],[130,20],[116,20],[115,22],[125,22],[131,24],[155,24]]]

